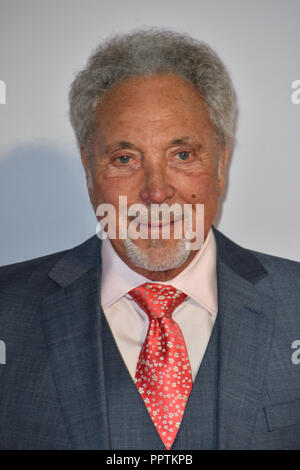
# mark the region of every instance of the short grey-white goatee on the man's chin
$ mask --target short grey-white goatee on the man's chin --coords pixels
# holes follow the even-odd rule
[[[167,240],[151,240],[150,247],[142,250],[130,238],[126,238],[124,247],[131,264],[147,271],[178,268],[186,262],[190,254],[182,239],[179,239],[172,249],[168,248]]]

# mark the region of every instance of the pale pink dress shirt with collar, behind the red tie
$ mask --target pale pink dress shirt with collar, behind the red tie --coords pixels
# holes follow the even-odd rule
[[[134,379],[149,320],[128,292],[151,280],[124,263],[108,238],[103,240],[101,254],[101,305],[124,364]],[[191,263],[178,276],[159,283],[172,285],[188,296],[174,310],[173,318],[181,328],[194,380],[218,310],[216,242],[212,229]]]

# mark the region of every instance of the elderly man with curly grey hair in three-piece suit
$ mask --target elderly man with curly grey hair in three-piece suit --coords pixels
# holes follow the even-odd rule
[[[76,76],[70,116],[117,231],[111,217],[1,268],[1,448],[300,448],[300,265],[213,226],[237,118],[221,60],[170,31],[116,36]]]

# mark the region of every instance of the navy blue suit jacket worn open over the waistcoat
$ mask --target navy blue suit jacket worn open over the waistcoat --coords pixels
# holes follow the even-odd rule
[[[244,249],[215,228],[214,234],[217,447],[299,449],[300,263]],[[109,429],[105,388],[100,245],[94,236],[0,269],[2,449],[111,448],[116,431]],[[118,386],[116,377],[115,392]],[[136,433],[141,448],[143,429]]]

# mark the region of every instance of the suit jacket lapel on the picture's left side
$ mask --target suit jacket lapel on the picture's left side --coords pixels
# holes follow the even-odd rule
[[[68,251],[49,277],[60,288],[42,303],[54,381],[75,449],[108,449],[100,322],[100,240]]]

